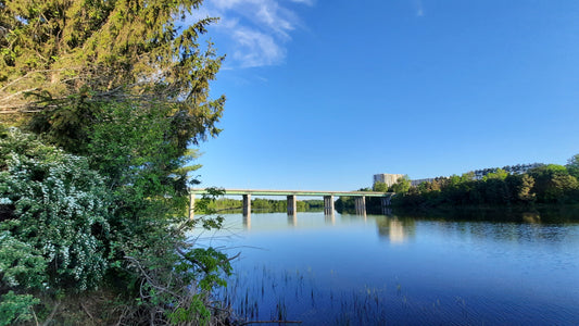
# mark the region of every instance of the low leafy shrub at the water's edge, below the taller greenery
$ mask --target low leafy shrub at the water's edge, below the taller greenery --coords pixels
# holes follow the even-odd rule
[[[127,268],[139,280],[134,283],[139,309],[127,316],[133,323],[144,316],[144,321],[154,317],[204,325],[214,316],[211,293],[226,286],[223,276],[231,273],[229,258],[213,248],[193,248],[175,231],[150,231],[142,248],[127,251],[133,254],[125,256]]]

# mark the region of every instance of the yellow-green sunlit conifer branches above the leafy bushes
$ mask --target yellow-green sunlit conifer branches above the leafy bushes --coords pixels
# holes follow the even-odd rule
[[[63,146],[103,102],[165,106],[181,148],[216,136],[225,97],[209,83],[224,57],[199,46],[215,18],[201,0],[0,0],[0,118]]]

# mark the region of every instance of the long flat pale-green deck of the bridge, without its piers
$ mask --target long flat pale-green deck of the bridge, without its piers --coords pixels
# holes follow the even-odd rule
[[[257,190],[257,189],[221,189],[225,195],[252,195],[252,196],[336,196],[336,197],[390,197],[394,192],[376,191],[317,191],[317,190]],[[205,189],[190,189],[191,193],[207,193]]]

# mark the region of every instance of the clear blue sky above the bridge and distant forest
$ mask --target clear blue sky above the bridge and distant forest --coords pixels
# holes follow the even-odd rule
[[[202,186],[354,190],[579,153],[579,1],[205,0]]]

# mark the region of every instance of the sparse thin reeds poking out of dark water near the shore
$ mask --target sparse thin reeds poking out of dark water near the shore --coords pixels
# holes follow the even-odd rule
[[[328,272],[324,284],[340,281]],[[335,278],[335,279],[332,279]],[[277,271],[255,266],[229,279],[221,296],[244,321],[302,321],[305,325],[383,325],[444,322],[479,324],[463,298],[415,298],[397,279],[381,287],[323,287],[311,268]]]

